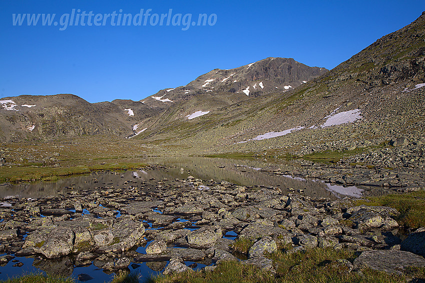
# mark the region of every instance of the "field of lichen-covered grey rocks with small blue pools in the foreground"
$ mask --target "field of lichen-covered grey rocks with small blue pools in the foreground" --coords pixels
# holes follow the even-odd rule
[[[196,263],[210,271],[237,256],[242,263],[274,272],[267,253],[331,247],[359,252],[353,263],[344,263],[349,270],[402,273],[410,266],[425,266],[425,228],[403,235],[392,208],[191,176],[156,181],[155,190],[133,180],[125,183],[123,189],[71,189],[66,195],[3,199],[0,252],[6,255],[0,264],[12,260],[20,267],[19,257],[33,257],[33,266],[69,276],[74,267],[91,263],[113,272],[145,262],[169,274]],[[248,240],[253,245],[246,255],[235,253]],[[145,248],[139,253],[138,247]],[[196,263],[188,267],[183,261]]]

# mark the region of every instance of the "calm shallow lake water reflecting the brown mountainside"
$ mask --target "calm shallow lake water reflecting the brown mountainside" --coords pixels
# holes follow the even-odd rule
[[[203,188],[208,189],[208,180],[221,180],[247,187],[279,187],[284,193],[288,188],[311,197],[338,198],[343,196],[359,197],[362,190],[356,187],[344,188],[325,184],[320,181],[291,178],[261,172],[259,169],[270,166],[261,161],[232,160],[204,157],[155,157],[132,159],[128,162],[143,164],[162,164],[166,168],[148,168],[125,172],[107,172],[88,176],[74,176],[57,182],[34,182],[25,184],[2,184],[0,197],[20,196],[37,198],[47,195],[69,194],[71,190],[97,190],[100,188],[129,188],[131,186],[154,190],[155,182],[166,179],[185,179],[188,176],[203,180]],[[98,162],[98,161],[96,161]],[[118,162],[113,160],[113,162]],[[119,161],[121,162],[121,161]]]

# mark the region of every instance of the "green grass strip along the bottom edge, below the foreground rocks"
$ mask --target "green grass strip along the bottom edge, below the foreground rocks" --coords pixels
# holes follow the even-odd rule
[[[278,252],[269,256],[275,265],[273,276],[257,267],[239,262],[222,262],[212,272],[186,272],[173,275],[159,275],[148,283],[405,283],[409,278],[425,278],[425,268],[405,271],[404,275],[389,275],[370,269],[349,272],[346,261],[352,262],[355,252],[335,251],[330,248],[315,248],[305,253],[284,254]]]

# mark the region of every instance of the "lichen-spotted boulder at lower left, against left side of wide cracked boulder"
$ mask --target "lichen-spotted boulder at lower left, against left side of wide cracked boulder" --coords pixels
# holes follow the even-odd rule
[[[55,228],[50,231],[40,252],[48,259],[57,259],[69,255],[73,248],[75,235],[65,228]]]

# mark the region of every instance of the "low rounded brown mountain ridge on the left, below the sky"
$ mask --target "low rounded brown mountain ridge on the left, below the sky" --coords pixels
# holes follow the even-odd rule
[[[0,140],[97,134],[128,136],[132,124],[159,112],[141,102],[117,100],[92,104],[72,94],[5,97],[0,99]]]

